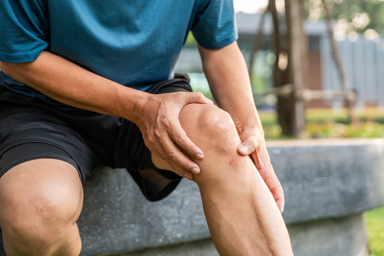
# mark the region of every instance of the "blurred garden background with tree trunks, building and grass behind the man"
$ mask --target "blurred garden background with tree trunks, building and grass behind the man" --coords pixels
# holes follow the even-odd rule
[[[297,2],[300,15],[286,9]],[[382,0],[234,0],[265,138],[384,137]],[[292,7],[293,8],[293,7]],[[175,72],[212,99],[197,43]],[[369,250],[384,256],[384,208],[366,213]]]

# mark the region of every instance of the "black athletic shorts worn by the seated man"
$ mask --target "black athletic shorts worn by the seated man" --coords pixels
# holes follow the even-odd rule
[[[177,91],[192,91],[189,81],[167,79],[147,90],[152,94]],[[22,162],[50,158],[72,164],[83,185],[96,165],[126,168],[151,201],[166,197],[179,184],[182,177],[154,166],[136,124],[84,113],[71,114],[0,87],[0,177]]]

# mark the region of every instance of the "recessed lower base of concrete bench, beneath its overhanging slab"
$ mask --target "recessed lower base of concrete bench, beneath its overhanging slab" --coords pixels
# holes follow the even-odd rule
[[[288,226],[295,256],[364,256],[364,218],[348,217],[309,221]],[[314,243],[313,241],[316,241]],[[115,256],[218,256],[212,239],[117,254]]]

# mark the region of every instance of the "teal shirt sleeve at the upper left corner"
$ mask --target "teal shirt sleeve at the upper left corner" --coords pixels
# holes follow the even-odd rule
[[[44,0],[0,1],[0,61],[34,61],[48,47]]]

